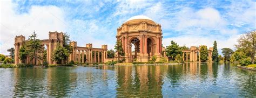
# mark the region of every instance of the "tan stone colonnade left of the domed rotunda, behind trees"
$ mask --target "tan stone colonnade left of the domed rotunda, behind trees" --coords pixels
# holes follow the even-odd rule
[[[15,64],[21,64],[21,60],[19,59],[19,49],[26,43],[24,36],[16,36],[15,37]],[[63,33],[62,32],[49,32],[49,39],[41,40],[44,48],[46,48],[47,56],[46,60],[49,64],[56,64],[56,61],[52,60],[52,52],[56,49],[57,44],[63,46]],[[102,48],[93,48],[92,44],[86,44],[85,47],[77,46],[76,41],[71,41],[70,45],[73,47],[73,51],[70,54],[69,61],[73,60],[79,63],[95,63],[95,62],[105,62],[107,59],[107,45],[102,45]],[[92,54],[94,53],[94,54]],[[96,54],[97,53],[97,54]],[[39,55],[43,55],[40,53]],[[84,58],[86,55],[86,59]],[[97,59],[96,59],[97,57]],[[43,60],[38,60],[38,64],[42,64]],[[25,64],[33,64],[33,60],[30,60],[29,57],[23,62]]]

